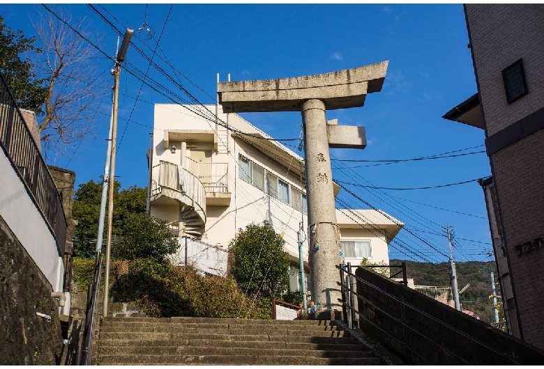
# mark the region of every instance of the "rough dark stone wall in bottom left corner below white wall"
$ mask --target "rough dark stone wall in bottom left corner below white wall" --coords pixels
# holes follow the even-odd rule
[[[65,346],[52,287],[0,217],[0,365],[59,365]],[[50,315],[51,321],[36,313]]]

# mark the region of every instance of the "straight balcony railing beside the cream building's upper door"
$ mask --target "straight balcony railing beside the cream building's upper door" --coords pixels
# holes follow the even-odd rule
[[[206,192],[229,191],[229,163],[195,162],[187,157],[186,169],[197,176]]]

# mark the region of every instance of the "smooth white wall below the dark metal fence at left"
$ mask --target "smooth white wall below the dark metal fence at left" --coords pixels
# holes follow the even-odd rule
[[[34,260],[53,292],[61,292],[64,266],[56,242],[27,189],[0,149],[0,215]]]

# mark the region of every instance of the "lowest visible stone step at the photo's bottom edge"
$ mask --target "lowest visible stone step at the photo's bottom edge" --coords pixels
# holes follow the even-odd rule
[[[273,355],[102,355],[100,365],[381,365],[381,359]]]

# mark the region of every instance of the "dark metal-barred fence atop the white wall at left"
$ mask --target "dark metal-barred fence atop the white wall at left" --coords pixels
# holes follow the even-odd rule
[[[67,223],[61,195],[3,75],[0,82],[0,146],[52,230],[59,256],[63,256]]]

